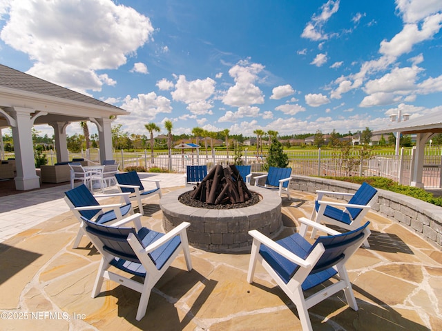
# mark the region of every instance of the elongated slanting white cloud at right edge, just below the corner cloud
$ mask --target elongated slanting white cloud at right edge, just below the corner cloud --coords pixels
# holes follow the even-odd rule
[[[390,41],[381,41],[379,52],[392,57],[399,57],[408,53],[416,43],[431,39],[442,27],[442,14],[434,14],[424,19],[419,30],[416,23],[407,23],[403,30],[396,34]]]

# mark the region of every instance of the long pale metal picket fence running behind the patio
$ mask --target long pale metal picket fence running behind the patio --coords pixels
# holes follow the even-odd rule
[[[414,149],[402,149],[401,155],[396,157],[394,153],[374,154],[368,159],[361,159],[360,150],[354,150],[351,154],[343,155],[339,151],[332,150],[307,150],[305,152],[287,151],[289,167],[292,174],[305,176],[380,176],[392,179],[403,185],[410,185],[414,169]],[[8,154],[8,155],[6,155]],[[5,153],[7,157],[14,157],[13,153]],[[57,162],[55,152],[47,153],[48,164]],[[99,163],[99,150],[91,148],[79,153],[69,153],[69,159],[83,157],[91,163]],[[256,154],[247,150],[242,151],[242,163],[251,165],[252,172],[264,171],[266,152]],[[142,152],[114,151],[113,159],[119,163],[119,168],[125,170],[128,167],[140,167],[152,171],[152,168],[160,168],[171,172],[184,173],[187,165],[207,165],[208,169],[213,165],[228,165],[234,163],[233,151],[182,150],[172,152]],[[425,148],[423,166],[423,184],[425,188],[442,188],[441,179],[442,149],[437,147]]]

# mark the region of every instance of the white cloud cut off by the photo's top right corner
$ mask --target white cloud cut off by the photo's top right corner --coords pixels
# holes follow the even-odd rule
[[[440,0],[396,0],[396,9],[401,12],[405,23],[414,23],[440,12],[442,2]]]

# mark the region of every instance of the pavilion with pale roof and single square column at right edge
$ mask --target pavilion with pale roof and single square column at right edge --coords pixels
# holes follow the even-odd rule
[[[402,134],[416,134],[416,152],[414,154],[414,169],[412,172],[411,185],[423,188],[422,174],[425,152],[425,143],[433,134],[442,132],[442,113],[434,112],[425,116],[398,122],[382,130],[376,130],[373,134],[385,134],[400,132]]]

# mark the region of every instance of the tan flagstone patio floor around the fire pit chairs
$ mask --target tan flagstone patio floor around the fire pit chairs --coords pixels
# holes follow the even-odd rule
[[[182,185],[182,175],[146,177],[161,179],[163,194]],[[247,283],[248,252],[191,248],[193,270],[184,271],[179,257],[142,321],[133,290],[105,282],[92,299],[99,254],[86,237],[71,248],[78,222],[61,199],[68,188],[0,199],[1,330],[300,330],[296,308],[262,268]],[[296,220],[313,208],[312,194],[291,194],[283,199],[280,237],[296,232]],[[157,196],[150,202],[142,223],[162,231]],[[309,310],[314,330],[442,330],[442,253],[394,221],[374,212],[367,219],[372,248],[347,264],[359,310],[338,293]]]

